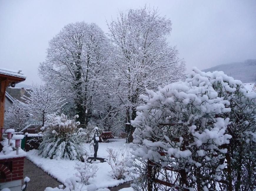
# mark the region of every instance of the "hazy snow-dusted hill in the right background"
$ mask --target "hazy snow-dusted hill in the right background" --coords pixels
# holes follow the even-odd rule
[[[246,60],[245,62],[233,62],[230,64],[221,64],[203,71],[224,71],[228,76],[232,76],[236,80],[241,80],[242,83],[256,83],[256,59]]]

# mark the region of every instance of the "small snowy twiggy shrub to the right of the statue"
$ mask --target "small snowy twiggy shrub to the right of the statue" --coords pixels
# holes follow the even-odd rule
[[[111,166],[111,175],[120,180],[122,178],[127,178],[129,175],[129,167],[127,162],[131,159],[131,154],[128,148],[122,148],[119,150],[114,150],[112,148],[107,148],[108,158],[105,159],[107,163]]]

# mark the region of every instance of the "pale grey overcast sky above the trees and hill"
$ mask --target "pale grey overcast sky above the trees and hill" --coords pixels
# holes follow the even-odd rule
[[[48,41],[64,25],[96,23],[106,33],[106,20],[119,10],[148,4],[172,21],[170,44],[179,57],[206,69],[256,58],[256,1],[121,1],[121,0],[0,0],[0,67],[22,69],[24,83],[39,83],[37,68]]]

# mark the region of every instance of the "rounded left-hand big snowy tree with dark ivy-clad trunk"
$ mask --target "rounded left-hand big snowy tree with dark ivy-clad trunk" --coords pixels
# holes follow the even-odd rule
[[[109,42],[99,26],[77,22],[66,26],[49,42],[39,75],[74,103],[79,121],[87,124],[94,111],[99,84],[108,70]]]

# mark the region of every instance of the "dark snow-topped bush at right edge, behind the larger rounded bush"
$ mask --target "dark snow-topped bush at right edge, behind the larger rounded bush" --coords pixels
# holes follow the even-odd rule
[[[195,69],[187,81],[200,84],[206,79],[214,90],[228,102],[230,112],[225,112],[230,123],[226,132],[232,136],[230,144],[222,145],[226,149],[227,168],[221,174],[221,179],[232,184],[218,186],[223,190],[254,190],[256,180],[256,93],[248,92],[241,81],[234,80],[223,72],[202,72]],[[230,165],[229,165],[230,163]],[[227,173],[229,172],[230,173]]]

